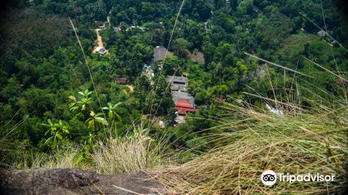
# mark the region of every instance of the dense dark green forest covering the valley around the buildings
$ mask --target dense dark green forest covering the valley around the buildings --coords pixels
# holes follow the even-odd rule
[[[69,143],[85,163],[97,145],[135,137],[138,127],[166,137],[169,150],[192,149],[186,161],[219,145],[207,135],[228,131],[215,128],[221,118],[238,118],[224,116],[221,101],[267,109],[260,96],[288,102],[294,78],[303,109],[347,98],[345,8],[335,0],[9,1],[0,14],[1,164],[31,164],[33,154]],[[92,52],[96,21],[106,24],[104,56]],[[153,61],[157,46],[171,52],[164,64]],[[155,77],[142,74],[146,65]],[[168,75],[189,78],[198,110],[179,126]]]

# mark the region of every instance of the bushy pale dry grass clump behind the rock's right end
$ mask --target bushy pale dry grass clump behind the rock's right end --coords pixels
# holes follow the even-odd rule
[[[93,167],[98,173],[116,174],[153,169],[166,162],[163,145],[145,133],[100,143],[93,150]]]

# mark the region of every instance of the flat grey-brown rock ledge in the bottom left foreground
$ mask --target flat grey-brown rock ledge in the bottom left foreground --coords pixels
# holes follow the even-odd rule
[[[161,194],[145,173],[100,175],[81,169],[0,169],[0,194]]]

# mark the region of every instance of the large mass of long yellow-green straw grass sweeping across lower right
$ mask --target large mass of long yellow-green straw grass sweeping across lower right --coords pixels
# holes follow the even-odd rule
[[[318,114],[269,114],[225,103],[239,120],[224,123],[229,133],[214,138],[221,146],[187,164],[159,171],[159,181],[178,194],[321,194],[346,185],[347,104]],[[336,112],[338,111],[338,112]],[[333,115],[335,113],[335,115]],[[332,118],[330,117],[332,116]],[[277,182],[264,186],[260,175],[320,173],[335,182]]]

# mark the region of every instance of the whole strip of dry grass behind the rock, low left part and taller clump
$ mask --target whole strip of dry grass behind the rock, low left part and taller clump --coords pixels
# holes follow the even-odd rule
[[[97,173],[116,174],[155,169],[168,162],[164,143],[150,138],[143,130],[136,134],[110,139],[90,150],[90,157],[79,161],[81,147],[67,143],[52,153],[38,153],[24,159],[24,169],[78,167]],[[26,156],[26,155],[25,155]],[[29,163],[30,162],[30,163]]]

